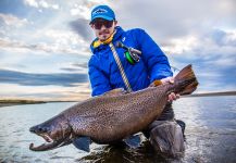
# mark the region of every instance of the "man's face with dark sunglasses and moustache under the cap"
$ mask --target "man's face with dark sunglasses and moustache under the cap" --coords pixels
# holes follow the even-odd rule
[[[95,35],[100,41],[107,40],[114,32],[116,21],[107,21],[103,18],[96,18],[91,23],[91,28],[95,30]]]

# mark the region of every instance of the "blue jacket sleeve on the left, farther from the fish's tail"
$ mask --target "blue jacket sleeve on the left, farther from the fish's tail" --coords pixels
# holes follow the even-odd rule
[[[102,73],[92,59],[88,62],[88,75],[91,86],[91,96],[99,96],[109,90],[111,90],[111,86],[107,76]]]

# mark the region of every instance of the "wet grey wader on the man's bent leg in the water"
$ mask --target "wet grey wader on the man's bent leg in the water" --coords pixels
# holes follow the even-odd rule
[[[185,123],[174,120],[172,103],[167,103],[161,116],[142,133],[154,150],[166,155],[178,156],[185,150],[184,130]]]

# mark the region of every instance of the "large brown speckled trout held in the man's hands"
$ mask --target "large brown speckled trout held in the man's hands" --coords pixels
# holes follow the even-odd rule
[[[33,151],[46,151],[74,143],[89,150],[90,140],[97,143],[113,143],[144,130],[161,115],[170,92],[188,95],[196,90],[197,78],[191,65],[184,67],[174,78],[174,84],[148,87],[135,92],[111,90],[102,96],[77,103],[30,131],[46,141]]]

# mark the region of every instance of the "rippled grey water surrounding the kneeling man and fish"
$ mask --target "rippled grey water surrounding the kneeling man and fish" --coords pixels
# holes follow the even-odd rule
[[[156,153],[148,141],[140,148],[114,148],[92,143],[86,153],[70,145],[46,152],[33,152],[42,138],[28,128],[74,103],[46,103],[0,108],[0,162],[236,162],[236,97],[183,98],[174,102],[176,118],[186,123],[183,158]]]

